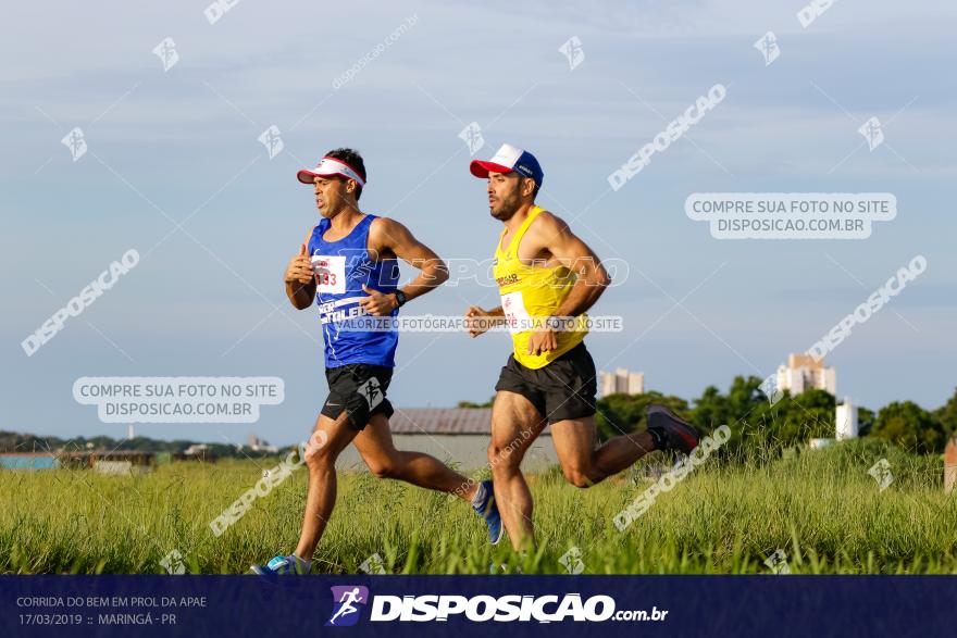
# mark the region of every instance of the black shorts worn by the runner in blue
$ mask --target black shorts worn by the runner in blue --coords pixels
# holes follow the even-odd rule
[[[322,414],[338,418],[345,410],[349,424],[358,430],[365,427],[373,414],[393,415],[393,404],[385,393],[393,380],[393,368],[368,363],[351,363],[327,367],[325,378],[330,395],[322,406]]]

